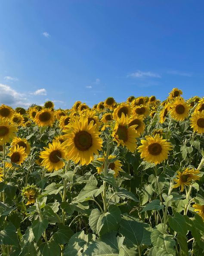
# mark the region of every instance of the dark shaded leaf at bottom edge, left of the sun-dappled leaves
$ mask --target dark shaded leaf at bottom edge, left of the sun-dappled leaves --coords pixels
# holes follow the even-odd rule
[[[37,256],[60,256],[61,250],[59,244],[55,241],[41,243]]]

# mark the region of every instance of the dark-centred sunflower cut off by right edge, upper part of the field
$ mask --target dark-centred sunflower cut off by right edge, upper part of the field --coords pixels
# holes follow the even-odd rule
[[[191,128],[198,134],[204,133],[204,110],[202,112],[195,112],[190,118]]]

